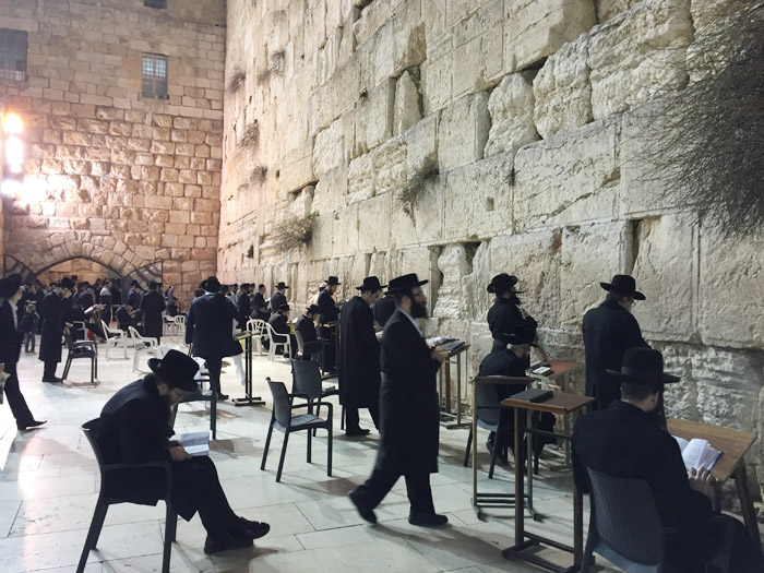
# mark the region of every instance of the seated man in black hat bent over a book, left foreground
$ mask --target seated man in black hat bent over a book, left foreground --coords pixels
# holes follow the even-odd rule
[[[215,464],[207,456],[192,457],[179,442],[168,420],[183,394],[196,392],[196,362],[178,350],[148,360],[151,374],[122,387],[100,413],[96,439],[107,464],[170,462],[171,499],[178,514],[190,521],[196,512],[207,532],[205,553],[249,547],[271,526],[237,516],[228,504]],[[109,493],[135,503],[155,505],[165,497],[162,468],[119,471],[109,481]]]

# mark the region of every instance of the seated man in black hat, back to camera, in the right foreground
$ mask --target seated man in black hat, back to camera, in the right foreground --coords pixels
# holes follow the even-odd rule
[[[730,516],[716,516],[707,497],[713,477],[707,469],[684,467],[677,441],[661,427],[657,414],[664,384],[679,378],[664,373],[662,355],[650,348],[630,348],[621,371],[621,399],[602,410],[578,418],[573,431],[573,476],[578,489],[589,492],[592,468],[613,477],[644,479],[649,486],[664,527],[676,534],[666,538],[666,562],[688,573],[705,565],[723,548],[723,523],[732,532],[729,571],[764,571],[764,558],[745,527]]]

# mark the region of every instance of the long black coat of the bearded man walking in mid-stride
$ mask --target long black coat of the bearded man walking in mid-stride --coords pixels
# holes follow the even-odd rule
[[[381,365],[382,440],[377,465],[402,474],[438,471],[440,362],[402,310],[384,326]]]

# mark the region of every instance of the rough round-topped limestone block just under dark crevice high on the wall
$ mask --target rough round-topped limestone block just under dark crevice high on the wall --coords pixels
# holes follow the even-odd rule
[[[534,91],[528,73],[504,76],[488,99],[491,129],[486,143],[486,157],[515,151],[539,135],[534,123]]]

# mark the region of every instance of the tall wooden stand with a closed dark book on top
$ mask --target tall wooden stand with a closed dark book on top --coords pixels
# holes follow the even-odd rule
[[[585,408],[594,398],[589,396],[580,396],[578,394],[566,394],[563,392],[556,393],[546,402],[527,402],[524,399],[515,399],[512,397],[501,401],[502,406],[512,407],[515,409],[515,545],[504,549],[501,554],[505,559],[520,559],[535,565],[541,566],[549,571],[573,573],[581,569],[584,556],[584,501],[581,492],[574,486],[573,490],[573,547],[560,544],[552,539],[541,537],[539,535],[525,530],[525,479],[523,477],[523,466],[526,459],[523,459],[521,443],[527,435],[527,450],[525,456],[533,455],[533,434],[547,434],[541,430],[528,428],[529,418],[534,411],[548,411],[556,416],[566,416],[574,411],[580,411]],[[570,440],[571,437],[556,434],[557,438]],[[528,498],[533,501],[533,474],[528,471]],[[573,565],[570,568],[560,568],[554,563],[547,561],[534,554],[524,553],[530,547],[544,544],[563,551],[573,553]]]

